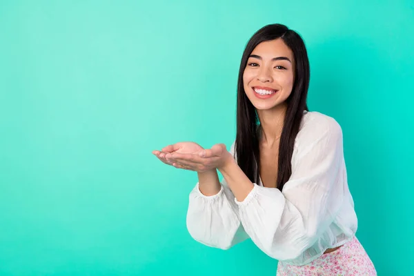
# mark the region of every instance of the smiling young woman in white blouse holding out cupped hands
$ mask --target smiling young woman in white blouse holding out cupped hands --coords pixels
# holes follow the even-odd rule
[[[355,237],[342,129],[308,111],[309,75],[299,34],[264,26],[242,56],[230,152],[181,142],[153,153],[197,172],[187,227],[198,242],[227,249],[250,237],[279,260],[277,275],[377,275]]]

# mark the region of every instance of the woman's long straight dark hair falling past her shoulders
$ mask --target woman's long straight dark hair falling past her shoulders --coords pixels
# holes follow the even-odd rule
[[[310,78],[308,54],[305,43],[297,32],[288,29],[282,24],[264,26],[250,38],[244,49],[242,62],[239,68],[237,81],[237,134],[235,141],[235,154],[237,163],[252,182],[259,179],[259,132],[257,131],[257,112],[246,96],[243,85],[243,73],[248,57],[255,47],[264,41],[282,39],[286,46],[292,50],[295,59],[295,81],[290,96],[286,99],[287,110],[279,143],[279,161],[276,187],[282,190],[284,184],[292,174],[291,159],[293,147],[304,110],[308,111],[306,97]]]

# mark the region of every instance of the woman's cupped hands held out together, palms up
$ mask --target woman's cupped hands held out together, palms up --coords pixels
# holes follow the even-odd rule
[[[163,155],[163,152],[166,154]],[[181,142],[163,148],[162,152],[155,150],[153,153],[166,164],[195,172],[222,168],[233,159],[224,144],[215,144],[211,149],[204,149],[193,142]]]

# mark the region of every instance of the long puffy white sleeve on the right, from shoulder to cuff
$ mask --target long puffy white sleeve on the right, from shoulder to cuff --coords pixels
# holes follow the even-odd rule
[[[302,132],[302,131],[301,131]],[[282,192],[255,184],[237,201],[246,233],[264,253],[288,261],[328,229],[344,200],[342,129],[330,118],[297,137],[292,175]]]

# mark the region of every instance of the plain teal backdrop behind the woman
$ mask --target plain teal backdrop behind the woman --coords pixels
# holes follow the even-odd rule
[[[195,242],[197,175],[151,154],[230,146],[268,23],[302,34],[309,108],[342,126],[357,237],[379,275],[412,275],[412,0],[2,0],[0,275],[275,275],[251,241]]]

